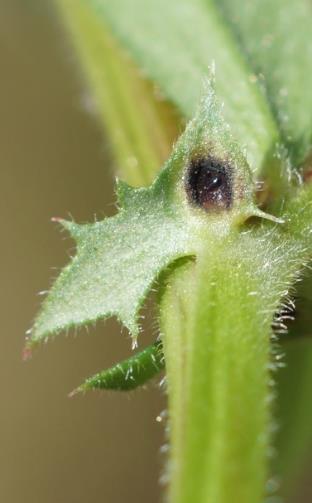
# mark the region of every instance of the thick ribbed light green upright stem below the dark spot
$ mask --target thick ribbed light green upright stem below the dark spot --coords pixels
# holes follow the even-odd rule
[[[163,296],[171,503],[263,499],[270,323],[263,323],[254,283],[228,242],[210,242]]]

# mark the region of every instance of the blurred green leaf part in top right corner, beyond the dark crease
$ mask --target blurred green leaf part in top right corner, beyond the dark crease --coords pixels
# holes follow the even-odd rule
[[[311,3],[218,0],[216,5],[264,86],[283,141],[298,167],[312,141]]]

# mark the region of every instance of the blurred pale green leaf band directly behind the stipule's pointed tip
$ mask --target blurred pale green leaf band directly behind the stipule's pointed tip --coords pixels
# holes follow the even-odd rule
[[[195,112],[207,69],[215,63],[216,90],[226,122],[246,147],[252,171],[268,164],[279,137],[277,128],[213,2],[89,0],[87,4],[188,118]]]

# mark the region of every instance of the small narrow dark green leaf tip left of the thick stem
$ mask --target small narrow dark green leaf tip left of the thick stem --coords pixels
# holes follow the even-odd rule
[[[72,391],[70,396],[96,389],[133,390],[145,384],[164,368],[165,359],[162,343],[158,341],[127,360],[89,377]]]

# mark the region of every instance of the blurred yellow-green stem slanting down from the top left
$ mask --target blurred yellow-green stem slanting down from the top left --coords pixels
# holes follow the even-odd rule
[[[142,78],[84,1],[58,0],[58,5],[96,97],[117,172],[131,185],[149,184],[178,135],[177,113],[168,103],[156,99],[152,84]]]

